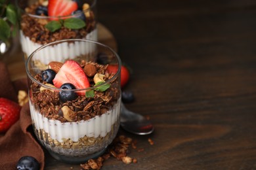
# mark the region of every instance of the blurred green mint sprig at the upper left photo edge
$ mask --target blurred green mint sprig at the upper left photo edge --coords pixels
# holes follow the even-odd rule
[[[16,36],[18,30],[16,7],[7,4],[5,0],[0,0],[0,39],[8,42],[8,39]]]

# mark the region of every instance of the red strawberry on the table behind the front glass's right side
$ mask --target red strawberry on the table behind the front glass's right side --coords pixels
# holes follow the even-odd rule
[[[117,65],[108,65],[107,67],[107,71],[109,73],[117,73],[117,69],[118,69]],[[123,88],[125,84],[127,84],[129,77],[130,77],[130,73],[127,67],[122,65],[121,66],[121,88]]]

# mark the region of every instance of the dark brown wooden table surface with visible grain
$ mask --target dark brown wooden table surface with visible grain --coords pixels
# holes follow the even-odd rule
[[[256,1],[98,1],[152,135],[102,169],[256,169]],[[154,145],[148,143],[148,138]],[[79,169],[47,154],[45,169]]]

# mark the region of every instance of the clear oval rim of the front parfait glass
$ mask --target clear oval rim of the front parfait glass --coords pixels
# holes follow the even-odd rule
[[[112,78],[106,80],[105,82],[103,82],[102,84],[99,84],[97,86],[93,86],[93,87],[89,87],[89,88],[83,88],[83,89],[60,89],[60,88],[56,88],[56,87],[52,87],[52,86],[47,86],[46,84],[43,84],[41,82],[39,82],[38,80],[36,80],[32,74],[30,73],[30,71],[28,71],[28,65],[32,59],[32,57],[37,53],[39,52],[40,50],[42,50],[43,48],[46,48],[47,46],[51,46],[53,44],[59,44],[59,43],[62,43],[62,42],[75,42],[75,41],[80,41],[80,42],[90,42],[90,43],[93,43],[93,44],[96,44],[96,45],[99,45],[99,46],[102,46],[108,50],[110,50],[110,52],[112,52],[112,54],[114,54],[114,56],[116,56],[117,58],[117,65],[118,65],[118,68],[117,68],[117,73],[112,76]],[[121,59],[119,58],[118,54],[112,49],[110,48],[109,46],[105,45],[105,44],[102,44],[100,42],[96,42],[96,41],[91,41],[91,40],[88,40],[88,39],[63,39],[63,40],[59,40],[59,41],[54,41],[54,42],[49,42],[48,44],[44,44],[43,46],[40,46],[39,48],[37,48],[36,50],[34,50],[32,52],[32,54],[30,54],[30,56],[28,56],[28,59],[26,60],[26,63],[25,63],[25,69],[26,69],[26,74],[28,75],[28,77],[30,78],[30,80],[32,80],[33,82],[35,82],[36,84],[39,84],[40,86],[43,86],[44,88],[47,88],[49,90],[54,90],[54,91],[72,91],[72,92],[81,92],[81,91],[89,91],[89,90],[95,90],[96,88],[100,87],[100,86],[104,86],[105,84],[110,84],[110,82],[112,82],[112,80],[116,79],[117,78],[117,75],[119,75],[120,73],[120,76],[121,76]]]

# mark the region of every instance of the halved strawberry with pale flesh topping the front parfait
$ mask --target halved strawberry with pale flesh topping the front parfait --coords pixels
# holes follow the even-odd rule
[[[66,82],[69,82],[75,86],[76,89],[89,88],[90,83],[85,75],[85,72],[74,60],[67,60],[53,79],[53,84],[56,88]],[[85,92],[79,92],[79,95],[85,95]]]

